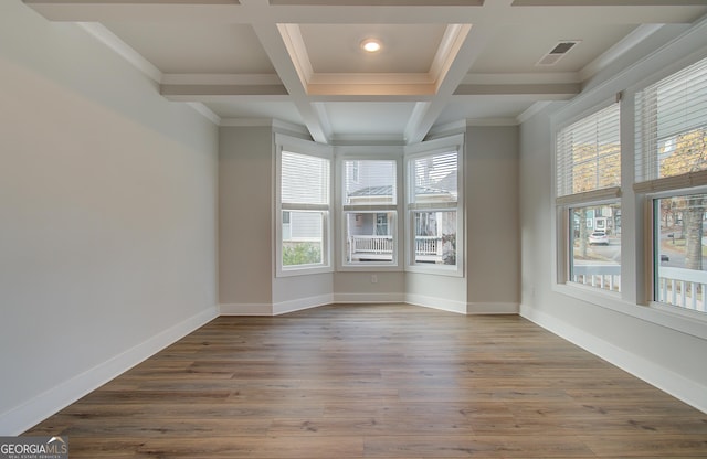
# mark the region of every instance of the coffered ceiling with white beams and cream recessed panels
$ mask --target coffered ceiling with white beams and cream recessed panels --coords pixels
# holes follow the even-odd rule
[[[411,143],[453,122],[517,124],[707,14],[707,0],[24,3],[81,23],[163,97],[214,122],[276,119],[327,143]],[[367,39],[381,50],[365,52]]]

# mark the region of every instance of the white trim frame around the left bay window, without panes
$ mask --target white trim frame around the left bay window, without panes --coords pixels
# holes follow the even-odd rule
[[[317,157],[329,161],[329,202],[326,205],[292,205],[282,203],[282,153],[283,151],[289,151],[297,154]],[[274,257],[275,257],[275,277],[289,277],[289,276],[303,276],[321,273],[333,273],[334,264],[331,263],[331,212],[333,212],[333,186],[334,186],[334,158],[333,150],[329,146],[316,143],[313,141],[298,139],[296,137],[286,136],[279,132],[274,137],[274,222],[275,222],[275,237],[274,244]],[[323,235],[321,235],[321,264],[316,265],[302,265],[294,267],[283,266],[283,211],[321,211],[323,212]]]

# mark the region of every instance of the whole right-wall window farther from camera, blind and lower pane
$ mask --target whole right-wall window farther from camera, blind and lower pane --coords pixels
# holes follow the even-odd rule
[[[562,127],[556,137],[560,281],[621,291],[620,105]]]

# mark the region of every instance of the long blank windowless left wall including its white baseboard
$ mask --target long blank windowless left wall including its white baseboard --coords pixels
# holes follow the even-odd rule
[[[0,2],[0,435],[217,313],[217,128]]]

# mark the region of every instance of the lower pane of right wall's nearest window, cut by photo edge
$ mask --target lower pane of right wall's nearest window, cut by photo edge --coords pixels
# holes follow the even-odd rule
[[[706,312],[707,194],[654,200],[655,300]]]

